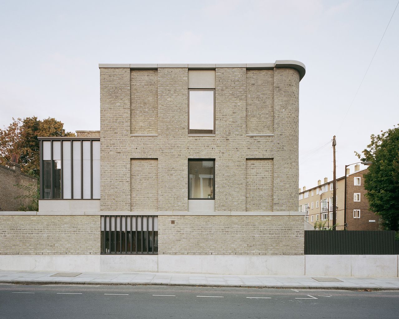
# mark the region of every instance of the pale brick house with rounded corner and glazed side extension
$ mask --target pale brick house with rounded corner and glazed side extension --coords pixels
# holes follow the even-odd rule
[[[250,256],[303,255],[302,63],[99,68],[100,136],[40,139],[41,200],[30,225],[63,232],[0,253],[72,252],[98,255],[101,269],[213,273],[245,268],[256,262]]]

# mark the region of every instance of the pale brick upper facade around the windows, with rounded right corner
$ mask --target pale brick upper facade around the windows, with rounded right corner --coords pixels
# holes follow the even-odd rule
[[[215,136],[188,136],[187,68],[158,68],[157,73],[144,71],[100,69],[102,210],[131,209],[130,183],[134,181],[126,177],[130,176],[132,158],[158,158],[160,211],[187,211],[188,158],[215,159],[216,211],[245,211],[247,205],[270,207],[271,204],[274,211],[297,210],[298,71],[216,68]],[[133,88],[135,83],[140,85]],[[147,93],[154,96],[156,91],[158,136],[130,136],[129,119],[135,114],[132,110],[150,105],[154,114],[154,103],[152,98],[151,103],[147,101]],[[131,93],[134,93],[132,99]],[[267,107],[263,106],[264,102]],[[268,109],[269,119],[256,120],[256,114],[266,117]],[[247,123],[250,130],[261,132],[271,126],[270,118],[273,118],[275,136],[246,136]],[[143,126],[145,122],[149,127],[155,125],[151,116],[141,120]],[[136,126],[133,131],[138,132]],[[269,188],[269,194],[265,194],[273,198],[272,203],[249,203],[252,199],[247,199],[245,180],[248,158],[274,159],[273,191]],[[151,207],[153,204],[148,201],[146,210]]]

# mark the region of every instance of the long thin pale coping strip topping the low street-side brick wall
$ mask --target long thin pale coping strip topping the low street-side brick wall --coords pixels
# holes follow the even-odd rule
[[[131,212],[131,211],[0,211],[1,215],[12,216],[48,216],[48,215],[155,215],[155,216],[304,216],[304,212],[283,211],[283,212],[189,212],[189,211],[154,211],[154,212]]]

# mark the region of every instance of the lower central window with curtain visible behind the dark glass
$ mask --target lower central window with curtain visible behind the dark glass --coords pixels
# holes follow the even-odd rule
[[[188,160],[188,199],[215,199],[215,160]]]

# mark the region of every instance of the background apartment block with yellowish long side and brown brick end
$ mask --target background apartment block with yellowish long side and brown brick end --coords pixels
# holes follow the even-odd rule
[[[365,197],[363,187],[364,174],[367,169],[355,171],[351,174],[347,169],[346,178],[346,224],[347,230],[379,230],[379,217],[369,210],[369,202]],[[311,189],[299,189],[299,208],[305,215],[305,221],[312,226],[317,221],[326,222],[325,227],[332,226],[332,192],[333,182],[324,178]],[[345,224],[345,176],[337,178],[337,230],[344,230]]]

